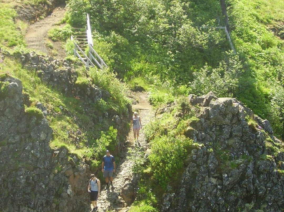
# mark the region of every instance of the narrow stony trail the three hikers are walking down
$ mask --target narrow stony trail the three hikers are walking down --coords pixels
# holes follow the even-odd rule
[[[136,99],[139,99],[139,102],[136,105],[132,105],[134,108],[138,109],[138,115],[141,117],[142,126],[148,124],[152,118],[154,117],[154,111],[151,108],[151,105],[147,101],[147,94],[145,93],[136,93]],[[137,109],[136,109],[137,111]],[[147,147],[147,142],[145,139],[145,132],[142,129],[139,133],[139,140],[134,141],[133,138],[133,131],[129,132],[126,141],[126,147],[130,148],[131,150],[135,149],[135,145],[138,146],[140,151],[145,151]],[[124,200],[121,197],[121,189],[131,180],[132,172],[131,167],[133,166],[133,162],[128,160],[127,156],[129,156],[129,151],[123,152],[120,156],[122,160],[120,163],[116,164],[116,173],[114,174],[113,178],[113,185],[114,188],[110,186],[109,189],[105,189],[102,186],[101,196],[98,199],[98,211],[105,212],[108,210],[112,211],[120,211],[126,212],[128,211],[129,207],[124,204]]]

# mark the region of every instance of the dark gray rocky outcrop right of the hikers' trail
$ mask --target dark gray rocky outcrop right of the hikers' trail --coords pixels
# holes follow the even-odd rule
[[[236,99],[191,94],[189,102],[201,107],[200,120],[185,133],[199,145],[162,211],[282,211],[284,144],[269,122]]]

